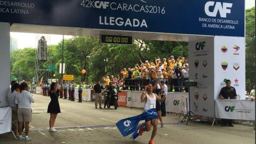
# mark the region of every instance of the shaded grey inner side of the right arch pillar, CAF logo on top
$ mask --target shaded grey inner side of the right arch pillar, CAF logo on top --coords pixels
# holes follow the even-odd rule
[[[214,37],[188,42],[191,111],[196,115],[214,117]]]

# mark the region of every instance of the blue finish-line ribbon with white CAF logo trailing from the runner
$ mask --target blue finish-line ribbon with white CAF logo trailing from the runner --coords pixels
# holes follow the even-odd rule
[[[138,116],[122,119],[116,123],[116,126],[124,137],[133,133],[131,139],[134,140],[139,136],[140,126],[145,126],[145,123],[139,125],[139,122],[145,119],[153,118],[158,119],[158,115],[155,108],[143,111],[143,113]]]

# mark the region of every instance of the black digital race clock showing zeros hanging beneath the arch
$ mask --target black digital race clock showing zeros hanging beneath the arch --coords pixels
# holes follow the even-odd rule
[[[132,36],[100,35],[100,44],[132,45]]]

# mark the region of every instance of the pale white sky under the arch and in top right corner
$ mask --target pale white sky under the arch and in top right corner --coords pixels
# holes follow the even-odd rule
[[[245,8],[249,9],[255,6],[255,0],[245,0]],[[26,47],[37,47],[37,41],[41,36],[45,36],[47,45],[58,44],[62,40],[62,35],[34,34],[34,33],[15,33],[11,32],[11,37],[17,38],[18,49]],[[72,36],[64,36],[64,39],[72,38]]]

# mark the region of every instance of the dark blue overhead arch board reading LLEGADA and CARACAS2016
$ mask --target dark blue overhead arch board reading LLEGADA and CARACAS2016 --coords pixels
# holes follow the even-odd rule
[[[0,0],[9,23],[244,36],[244,0]]]

